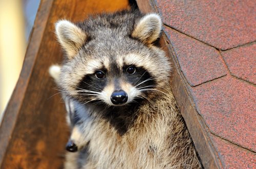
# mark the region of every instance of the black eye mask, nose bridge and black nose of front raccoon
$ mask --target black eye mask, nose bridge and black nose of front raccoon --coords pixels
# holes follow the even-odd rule
[[[82,80],[79,82],[77,88],[84,89],[86,91],[101,92],[104,90],[106,85],[108,85],[112,80],[114,82],[114,91],[110,96],[111,102],[114,106],[124,105],[129,98],[129,95],[122,89],[119,79],[122,78],[123,81],[130,83],[136,89],[152,89],[156,86],[156,80],[154,77],[143,67],[136,67],[127,65],[123,68],[118,68],[117,65],[112,64],[110,71],[106,69],[97,70],[94,74],[84,75]],[[134,71],[129,73],[129,71]],[[100,76],[101,78],[97,77]],[[78,92],[81,96],[78,98],[81,102],[91,102],[107,104],[105,102],[100,102],[101,98],[97,96],[88,96],[87,92]],[[144,92],[145,97],[147,96],[147,91]],[[82,95],[84,94],[84,95]],[[123,99],[119,99],[118,96],[124,96]],[[118,100],[119,99],[119,100]],[[134,98],[130,102],[139,100],[139,98]],[[112,106],[112,105],[111,105]]]

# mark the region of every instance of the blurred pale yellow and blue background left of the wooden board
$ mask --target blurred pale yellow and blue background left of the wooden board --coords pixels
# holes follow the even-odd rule
[[[39,0],[0,0],[0,123],[16,85]]]

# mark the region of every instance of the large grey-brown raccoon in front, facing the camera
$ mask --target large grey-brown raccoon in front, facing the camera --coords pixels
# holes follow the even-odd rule
[[[55,29],[66,57],[50,72],[75,112],[65,168],[202,167],[157,46],[158,14],[103,13]]]

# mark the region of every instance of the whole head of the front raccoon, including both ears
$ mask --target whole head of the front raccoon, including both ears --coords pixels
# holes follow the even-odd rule
[[[98,17],[78,25],[57,22],[57,38],[67,54],[59,86],[84,104],[120,106],[148,100],[169,79],[169,62],[153,45],[161,19],[156,14],[109,17],[112,20]]]

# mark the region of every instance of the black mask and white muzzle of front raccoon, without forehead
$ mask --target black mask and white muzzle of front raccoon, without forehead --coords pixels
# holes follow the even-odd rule
[[[124,55],[118,58],[125,60],[129,57],[132,56]],[[84,75],[77,89],[81,90],[80,97],[84,101],[95,99],[108,105],[124,105],[135,101],[135,98],[146,97],[147,90],[155,85],[153,75],[141,65],[125,61],[117,63],[116,59],[111,59],[105,60],[92,73]]]

